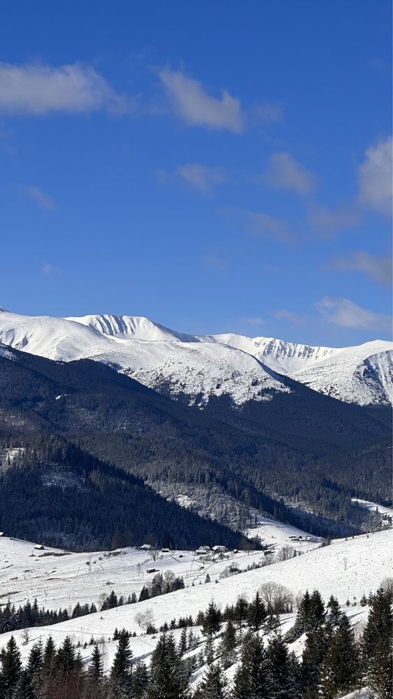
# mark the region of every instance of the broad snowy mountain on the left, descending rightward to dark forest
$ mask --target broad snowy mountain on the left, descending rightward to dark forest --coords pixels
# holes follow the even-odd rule
[[[180,338],[188,336],[172,337],[171,331],[147,318],[126,316],[122,321],[114,316],[87,316],[83,320],[0,313],[0,341],[49,359],[105,362],[146,386],[165,387],[174,397],[186,395],[190,402],[201,404],[210,395],[229,394],[241,404],[269,398],[266,392],[271,390],[290,390],[282,377],[236,348],[197,339],[183,341]],[[166,334],[170,339],[163,339]]]

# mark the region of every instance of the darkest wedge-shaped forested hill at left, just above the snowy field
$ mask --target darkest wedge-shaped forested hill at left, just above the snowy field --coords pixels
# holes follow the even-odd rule
[[[143,542],[180,550],[201,542],[240,549],[247,542],[64,437],[22,435],[17,444],[20,461],[0,473],[0,522],[10,535],[83,551]]]

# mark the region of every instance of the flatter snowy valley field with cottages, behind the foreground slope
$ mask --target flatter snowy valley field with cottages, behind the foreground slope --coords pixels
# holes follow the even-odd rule
[[[309,537],[308,532],[262,516],[249,534],[259,535],[262,544],[275,552],[283,546],[306,552],[320,546],[321,541],[318,537]],[[303,539],[293,542],[291,536]],[[9,598],[20,605],[29,597],[37,598],[38,605],[48,609],[68,609],[76,602],[94,602],[98,607],[100,595],[111,590],[126,597],[133,592],[138,595],[152,578],[148,568],[154,567],[163,573],[171,570],[190,586],[204,581],[206,574],[215,580],[229,564],[236,563],[244,569],[262,558],[262,551],[228,552],[213,557],[197,556],[194,551],[171,551],[160,552],[157,560],[152,560],[146,551],[132,548],[70,553],[45,546],[39,551],[31,542],[3,536],[0,537],[0,604]]]

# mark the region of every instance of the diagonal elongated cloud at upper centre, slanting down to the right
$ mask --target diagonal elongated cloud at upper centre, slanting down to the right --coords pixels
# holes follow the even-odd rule
[[[174,111],[187,124],[227,129],[236,134],[243,131],[241,103],[226,90],[222,90],[219,99],[211,97],[199,80],[169,68],[159,71],[159,78]]]

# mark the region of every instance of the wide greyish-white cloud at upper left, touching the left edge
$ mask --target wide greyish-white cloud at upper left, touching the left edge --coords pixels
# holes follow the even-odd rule
[[[90,66],[71,64],[17,66],[0,63],[0,112],[44,115],[85,113],[99,109],[114,114],[134,111],[134,101],[117,94]]]

